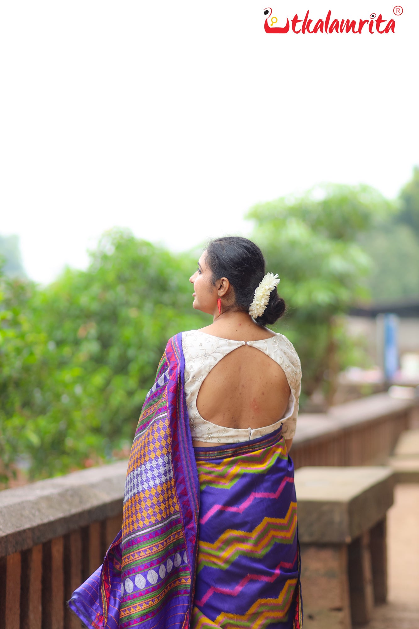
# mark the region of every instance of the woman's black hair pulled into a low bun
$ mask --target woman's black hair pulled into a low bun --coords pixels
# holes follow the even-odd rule
[[[213,284],[220,277],[226,277],[234,289],[234,306],[247,312],[255,289],[265,275],[265,259],[259,247],[252,240],[240,236],[215,238],[206,248],[206,264],[212,271]],[[274,288],[265,312],[255,321],[260,326],[273,325],[284,312],[284,299]]]

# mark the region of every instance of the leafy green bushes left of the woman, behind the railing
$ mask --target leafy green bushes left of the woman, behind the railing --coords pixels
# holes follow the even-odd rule
[[[6,474],[16,460],[31,477],[61,474],[130,443],[168,338],[208,324],[191,309],[195,266],[114,230],[87,271],[67,270],[42,290],[3,278]]]

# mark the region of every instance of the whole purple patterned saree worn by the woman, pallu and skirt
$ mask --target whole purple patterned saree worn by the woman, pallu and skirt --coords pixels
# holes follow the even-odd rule
[[[93,629],[301,629],[299,573],[281,429],[193,448],[177,334],[138,420],[121,531],[70,609]]]

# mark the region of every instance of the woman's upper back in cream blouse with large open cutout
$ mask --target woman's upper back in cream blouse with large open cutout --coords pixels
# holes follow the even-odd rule
[[[301,372],[288,339],[240,316],[220,324],[184,333],[182,340],[194,445],[259,437],[267,431],[257,429],[294,417],[298,409]]]

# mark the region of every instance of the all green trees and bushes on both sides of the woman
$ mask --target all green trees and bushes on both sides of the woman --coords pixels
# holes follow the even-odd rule
[[[369,290],[380,301],[419,294],[418,191],[416,168],[398,204],[327,185],[250,211],[282,280],[288,314],[276,329],[301,357],[303,403],[319,386],[332,401],[338,371],[367,364],[345,332],[350,306]],[[196,257],[112,230],[86,271],[41,289],[14,272],[16,241],[0,238],[2,252],[0,481],[17,465],[35,478],[112,460],[130,447],[167,339],[209,323],[191,308]]]

